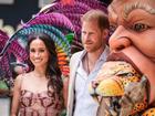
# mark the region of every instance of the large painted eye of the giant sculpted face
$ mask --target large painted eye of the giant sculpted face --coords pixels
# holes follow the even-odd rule
[[[143,24],[143,23],[136,23],[132,27],[132,29],[136,32],[143,32],[143,31],[149,29],[149,27],[146,24]]]

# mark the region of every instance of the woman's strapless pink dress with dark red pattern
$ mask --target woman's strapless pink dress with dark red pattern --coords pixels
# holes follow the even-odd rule
[[[63,104],[55,93],[21,91],[20,116],[60,116]]]

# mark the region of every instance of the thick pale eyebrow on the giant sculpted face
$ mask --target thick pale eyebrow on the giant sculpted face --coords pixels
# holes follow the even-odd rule
[[[124,7],[124,18],[126,19],[128,14],[135,9],[142,9],[151,14],[155,14],[155,9],[152,8],[151,6],[141,2],[135,2],[135,3],[126,4]]]

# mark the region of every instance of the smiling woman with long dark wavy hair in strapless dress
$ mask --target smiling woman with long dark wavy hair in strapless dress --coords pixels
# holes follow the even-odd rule
[[[17,77],[11,116],[59,116],[63,108],[63,82],[55,44],[44,33],[28,42],[30,72]]]

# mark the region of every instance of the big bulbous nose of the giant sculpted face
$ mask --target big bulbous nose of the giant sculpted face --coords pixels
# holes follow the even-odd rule
[[[132,44],[130,33],[124,27],[118,27],[110,38],[110,48],[112,51],[121,51]]]

